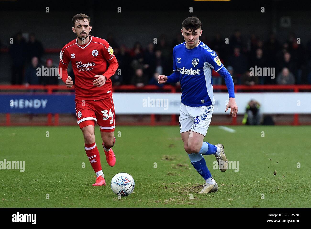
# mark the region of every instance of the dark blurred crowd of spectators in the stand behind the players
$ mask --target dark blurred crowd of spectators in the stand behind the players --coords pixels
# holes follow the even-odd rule
[[[122,45],[122,41],[116,41],[113,34],[108,34],[106,40],[113,47],[119,62],[119,69],[111,78],[113,84],[143,87],[147,84],[158,85],[159,74],[172,73],[172,50],[175,45],[183,42],[183,37],[178,33],[173,40],[169,40],[166,35],[162,35],[156,44],[151,42],[143,47],[137,41],[132,48]],[[219,33],[211,40],[202,35],[200,40],[216,51],[236,85],[311,84],[311,40],[306,46],[299,44],[293,32],[286,41],[279,41],[273,33],[267,39],[260,39],[255,33],[249,37],[242,36],[239,30],[234,32],[229,42],[225,42],[225,38]],[[30,34],[26,42],[22,34],[17,33],[14,43],[9,47],[9,53],[12,58],[12,84],[58,83],[58,80],[50,77],[36,76],[37,66],[50,67],[53,66],[53,61],[42,60],[43,45],[35,34]],[[43,62],[44,64],[40,64]],[[252,75],[250,69],[255,66],[275,68],[275,79]],[[212,72],[212,81],[214,85],[224,84],[222,77],[215,71]]]

